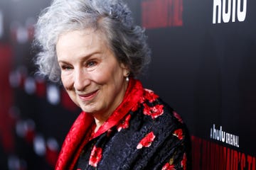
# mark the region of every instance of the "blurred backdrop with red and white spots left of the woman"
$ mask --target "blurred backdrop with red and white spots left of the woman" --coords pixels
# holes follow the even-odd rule
[[[33,25],[50,1],[0,1],[0,169],[53,169],[80,110],[36,77]]]

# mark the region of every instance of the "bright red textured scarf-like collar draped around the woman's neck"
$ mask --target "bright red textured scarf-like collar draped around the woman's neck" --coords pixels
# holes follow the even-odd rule
[[[55,170],[74,169],[80,156],[82,148],[95,137],[102,135],[114,125],[117,125],[124,115],[139,101],[143,94],[143,87],[139,80],[130,79],[127,91],[122,103],[110,115],[110,118],[103,123],[99,130],[92,134],[95,128],[95,121],[92,115],[85,112],[80,113],[68,132],[58,157]],[[92,135],[92,136],[91,136]]]

